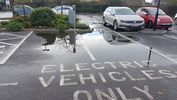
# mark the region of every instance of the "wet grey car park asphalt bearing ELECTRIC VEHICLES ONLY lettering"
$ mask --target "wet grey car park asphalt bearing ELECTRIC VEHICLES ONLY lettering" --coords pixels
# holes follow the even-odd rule
[[[0,64],[0,100],[177,99],[169,56],[177,40],[167,37],[175,32],[115,32],[100,16],[79,17],[94,31],[78,34],[76,44],[68,35],[1,32],[1,61],[10,56]]]

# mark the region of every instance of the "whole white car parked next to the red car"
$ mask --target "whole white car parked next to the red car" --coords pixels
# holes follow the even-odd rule
[[[128,7],[108,7],[103,13],[103,24],[110,24],[114,30],[144,28],[144,19]]]

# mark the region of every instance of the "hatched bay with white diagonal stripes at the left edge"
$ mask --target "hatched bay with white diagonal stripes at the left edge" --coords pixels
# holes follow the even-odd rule
[[[24,39],[26,39],[26,32],[21,34],[0,33],[0,64],[4,64],[10,58],[22,42],[24,42]]]

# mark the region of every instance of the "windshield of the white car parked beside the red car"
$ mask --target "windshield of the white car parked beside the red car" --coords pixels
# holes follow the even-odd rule
[[[135,13],[128,8],[120,8],[115,10],[116,15],[135,15]]]

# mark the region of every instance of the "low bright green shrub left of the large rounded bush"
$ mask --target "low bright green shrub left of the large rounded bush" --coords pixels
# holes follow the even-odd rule
[[[17,21],[10,21],[6,28],[9,31],[21,31],[23,29],[23,24]]]

